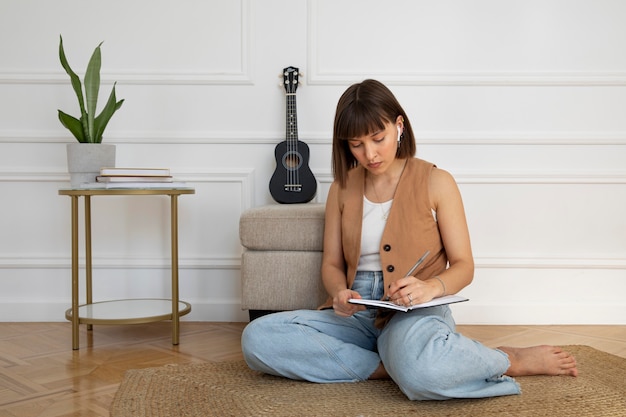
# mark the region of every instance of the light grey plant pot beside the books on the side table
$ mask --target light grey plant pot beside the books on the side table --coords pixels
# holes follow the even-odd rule
[[[67,170],[72,188],[95,182],[100,168],[115,166],[115,145],[102,143],[68,143]]]

